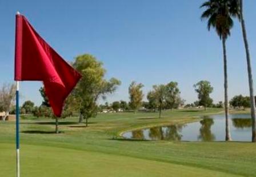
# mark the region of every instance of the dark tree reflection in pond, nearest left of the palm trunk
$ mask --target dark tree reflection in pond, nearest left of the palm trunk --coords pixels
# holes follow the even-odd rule
[[[202,126],[199,129],[198,140],[202,140],[204,142],[215,140],[215,135],[211,132],[211,126],[214,124],[213,119],[204,118],[200,123]]]

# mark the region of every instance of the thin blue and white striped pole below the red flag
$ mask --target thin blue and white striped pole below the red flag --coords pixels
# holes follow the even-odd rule
[[[16,81],[16,167],[19,177],[19,81]]]

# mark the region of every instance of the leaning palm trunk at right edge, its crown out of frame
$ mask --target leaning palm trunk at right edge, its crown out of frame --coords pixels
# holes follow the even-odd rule
[[[253,91],[253,74],[251,71],[251,59],[250,59],[250,51],[249,45],[247,42],[246,36],[246,29],[245,29],[245,20],[243,19],[243,1],[240,0],[240,14],[241,14],[241,25],[242,25],[242,32],[243,32],[243,41],[245,42],[245,51],[246,51],[246,61],[247,61],[247,73],[249,79],[249,89],[250,89],[250,101],[251,101],[251,141],[256,142],[256,124],[255,124],[255,98],[254,98],[254,91]]]

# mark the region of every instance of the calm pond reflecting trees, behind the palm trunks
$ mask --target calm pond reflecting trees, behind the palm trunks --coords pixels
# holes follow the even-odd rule
[[[199,122],[157,126],[125,132],[126,139],[223,141],[225,140],[225,115],[203,116]],[[251,140],[251,119],[249,114],[231,114],[230,132],[234,141]]]

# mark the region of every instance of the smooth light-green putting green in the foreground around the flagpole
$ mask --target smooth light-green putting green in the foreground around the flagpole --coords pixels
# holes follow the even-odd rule
[[[1,144],[3,174],[15,176],[14,146]],[[101,152],[24,145],[21,176],[225,176],[223,172]],[[6,176],[6,175],[5,175]],[[7,175],[8,176],[8,175]],[[235,175],[233,175],[235,176]]]

